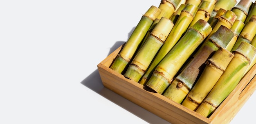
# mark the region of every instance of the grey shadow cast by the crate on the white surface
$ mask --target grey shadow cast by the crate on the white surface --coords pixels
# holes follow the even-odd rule
[[[124,43],[125,42],[123,41],[117,41],[115,45],[110,49],[109,54],[112,53],[114,50],[116,50],[119,46],[121,46]],[[104,87],[98,70],[95,70],[94,72],[92,72],[92,74],[86,77],[81,82],[81,84],[83,84],[85,87],[90,88],[92,91],[95,91],[99,95],[103,96],[104,98],[107,98],[111,102],[126,109],[130,113],[136,115],[137,117],[141,118],[142,120],[145,120],[150,124],[170,124],[166,120],[163,120],[157,115],[147,111],[146,109],[138,106],[137,104],[127,100],[126,98],[123,98],[122,96]]]

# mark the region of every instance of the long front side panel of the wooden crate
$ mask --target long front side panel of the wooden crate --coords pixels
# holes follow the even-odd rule
[[[165,98],[161,94],[146,91],[139,83],[134,83],[134,81],[124,78],[121,74],[115,74],[116,72],[108,67],[101,64],[98,67],[105,87],[164,120],[172,124],[210,124],[209,119],[198,118],[194,114],[180,109],[178,106],[182,105]],[[170,104],[170,102],[173,102],[173,104]]]

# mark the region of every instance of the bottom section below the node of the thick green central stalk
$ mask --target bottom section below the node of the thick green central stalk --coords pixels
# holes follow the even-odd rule
[[[169,81],[157,71],[153,72],[153,75],[146,83],[146,87],[156,91],[159,94],[162,94],[169,85]]]

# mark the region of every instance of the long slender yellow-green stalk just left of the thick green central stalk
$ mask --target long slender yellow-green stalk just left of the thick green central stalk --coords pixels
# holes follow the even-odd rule
[[[153,59],[152,63],[148,67],[148,70],[146,70],[146,73],[143,76],[144,79],[141,79],[141,81],[139,82],[140,84],[142,85],[146,84],[148,80],[148,76],[151,76],[157,64],[164,58],[164,56],[177,43],[180,37],[186,32],[197,10],[198,10],[198,7],[195,7],[193,4],[188,4],[186,5],[186,7],[184,7],[184,9],[180,13],[180,16],[177,22],[174,24],[173,29],[171,30],[170,34],[166,38],[166,41],[160,48],[155,59]]]

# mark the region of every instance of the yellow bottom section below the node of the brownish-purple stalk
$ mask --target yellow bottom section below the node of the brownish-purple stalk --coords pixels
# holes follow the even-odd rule
[[[186,85],[184,85],[180,80],[175,79],[163,95],[174,102],[181,103],[188,93],[189,89]]]

